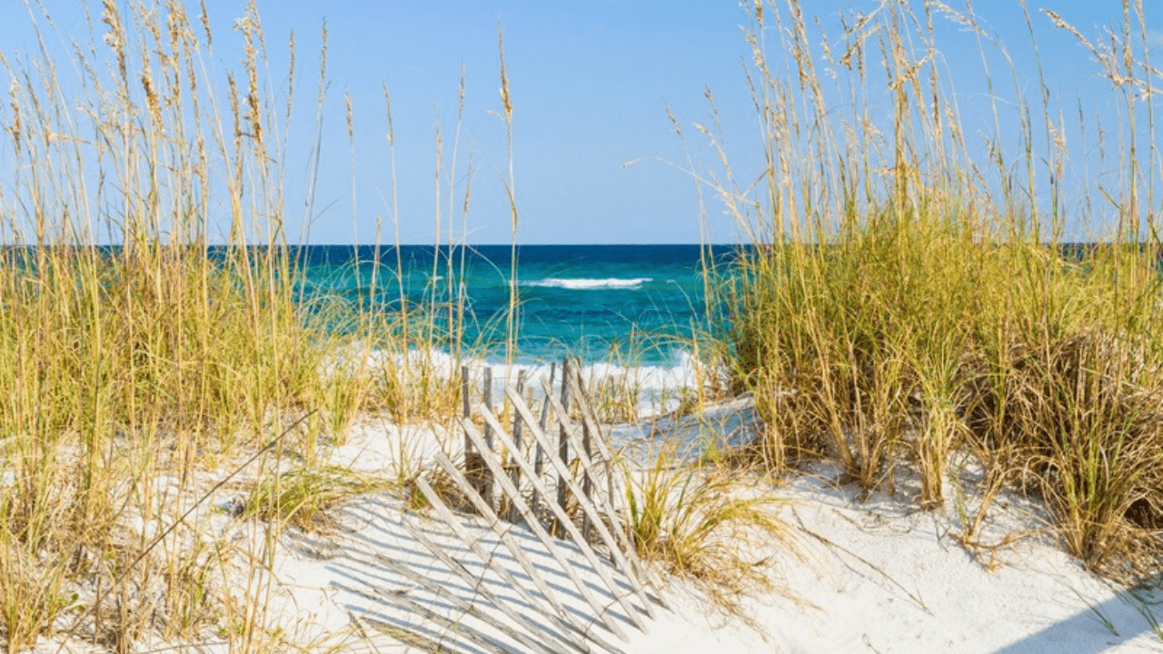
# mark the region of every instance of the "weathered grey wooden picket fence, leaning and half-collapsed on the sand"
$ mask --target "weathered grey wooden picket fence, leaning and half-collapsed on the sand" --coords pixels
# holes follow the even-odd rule
[[[665,604],[658,580],[637,559],[627,535],[625,481],[584,391],[578,365],[570,361],[559,368],[554,365],[549,378],[537,381],[538,389],[527,388],[522,374],[515,384],[504,386],[500,398],[492,397],[492,374],[486,369],[477,403],[471,400],[473,384],[469,369],[462,371],[462,377],[464,414],[459,426],[464,447],[459,461],[437,454],[440,475],[418,477],[414,491],[430,506],[430,516],[455,533],[464,550],[472,552],[484,569],[505,580],[525,607],[497,597],[481,583],[481,577],[450,557],[444,547],[405,523],[409,534],[435,560],[470,588],[483,589],[480,598],[485,602],[461,609],[507,635],[511,645],[457,631],[458,625],[444,624],[447,618],[422,606],[415,610],[433,626],[457,631],[469,644],[466,652],[555,653],[564,651],[564,645],[584,653],[620,653],[618,646],[601,635],[602,630],[595,627],[604,627],[626,641],[622,624],[645,631],[647,620],[655,616],[654,605]],[[437,479],[441,491],[434,488]],[[521,583],[498,563],[495,553],[484,550],[464,529],[464,518],[455,516],[454,509],[479,516],[529,581]],[[540,542],[540,555],[548,552],[552,556],[571,588],[545,582],[542,571],[530,562],[533,552],[520,542],[528,539],[514,538],[514,526],[523,526],[531,533]],[[575,570],[578,554],[595,574],[588,580]],[[409,577],[448,602],[465,604],[414,573]],[[568,610],[566,595],[573,602],[580,597],[592,611],[592,619],[576,609]],[[529,607],[535,617],[529,614]],[[547,628],[544,620],[555,628]],[[512,642],[520,648],[514,649]],[[441,648],[459,651],[450,642],[442,642]]]

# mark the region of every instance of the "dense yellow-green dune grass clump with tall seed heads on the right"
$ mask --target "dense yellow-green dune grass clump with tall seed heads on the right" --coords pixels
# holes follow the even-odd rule
[[[922,481],[915,500],[932,507],[950,453],[976,453],[990,475],[1046,499],[1087,566],[1129,578],[1155,568],[1163,305],[1155,135],[1136,134],[1135,112],[1153,109],[1136,94],[1158,79],[1142,58],[1142,3],[1125,2],[1125,24],[1098,47],[1036,16],[1091,49],[1122,106],[1127,136],[1105,143],[1121,165],[1087,191],[1101,214],[1064,208],[1076,189],[1049,94],[1029,100],[1015,81],[1016,142],[986,135],[975,158],[934,28],[976,34],[983,59],[1004,52],[971,8],[885,2],[846,15],[822,45],[797,0],[754,9],[758,182],[737,182],[718,133],[700,129],[722,162],[709,183],[751,239],[715,292],[733,384],[765,419],[763,461],[779,471],[834,460],[866,492],[892,491],[908,467]],[[1026,17],[1036,48],[1041,28]],[[769,61],[777,49],[786,67]],[[886,120],[871,118],[885,105]],[[1064,243],[1071,225],[1101,243]]]

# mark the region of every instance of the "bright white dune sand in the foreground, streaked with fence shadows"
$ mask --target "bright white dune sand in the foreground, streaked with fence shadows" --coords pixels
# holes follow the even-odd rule
[[[723,420],[740,426],[737,412],[725,415]],[[714,431],[723,433],[727,422]],[[704,433],[706,428],[704,425]],[[433,442],[433,433],[424,429],[370,422],[335,452],[335,460],[394,474],[401,445],[416,461]],[[627,641],[601,626],[594,611],[571,590],[562,567],[531,534],[519,527],[512,533],[572,620],[594,634],[597,642],[591,641],[590,647],[595,653],[614,648],[627,654],[1163,651],[1163,641],[1142,613],[1154,610],[1163,618],[1163,610],[1136,603],[1125,589],[1086,573],[1044,529],[975,555],[954,538],[961,527],[951,498],[942,510],[919,511],[909,505],[907,497],[913,489],[902,479],[897,499],[876,495],[861,503],[854,488],[829,482],[835,471],[821,467],[815,472],[771,490],[786,498],[777,511],[792,526],[800,556],[784,545],[757,552],[756,556],[770,556],[769,570],[782,588],[740,598],[740,616],[714,605],[694,585],[671,578],[663,590],[670,609],[656,606],[654,619],[645,619],[641,606],[629,602],[645,624],[645,630],[638,630],[576,548],[565,546],[571,566],[608,606]],[[223,491],[212,503],[230,497]],[[972,498],[966,503],[973,507]],[[418,614],[416,606],[421,606],[458,630],[495,639],[512,651],[535,651],[466,613],[465,606],[472,605],[522,630],[498,612],[494,602],[509,605],[528,620],[531,627],[522,632],[549,644],[547,651],[570,651],[554,640],[555,633],[577,640],[577,634],[547,614],[543,606],[529,606],[495,571],[486,570],[442,524],[406,513],[399,498],[390,493],[364,496],[333,511],[333,517],[340,526],[327,534],[287,531],[270,570],[273,576],[265,577],[276,582],[266,619],[286,630],[291,640],[317,651],[418,651],[391,635],[390,630],[397,628],[450,647],[458,642],[458,651],[483,651],[434,626],[431,616]],[[465,517],[462,524],[490,553],[494,569],[508,569],[536,596],[531,582],[479,519]],[[454,575],[406,525],[441,545],[469,575],[483,581],[470,585]],[[1005,534],[1043,526],[1035,504],[1006,496],[997,502],[980,540],[997,542]],[[240,583],[244,571],[238,571]],[[435,584],[445,595],[434,595],[424,583]],[[1163,597],[1154,598],[1160,599]]]

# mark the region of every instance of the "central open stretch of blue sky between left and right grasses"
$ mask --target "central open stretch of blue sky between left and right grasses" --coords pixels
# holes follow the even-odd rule
[[[740,26],[747,14],[730,1],[338,1],[326,8],[297,2],[259,10],[269,30],[309,29],[326,17],[334,95],[350,91],[356,107],[366,109],[357,111],[357,130],[370,125],[374,136],[361,143],[357,161],[370,155],[378,163],[358,170],[357,179],[363,189],[379,191],[357,198],[359,240],[371,230],[368,212],[380,212],[385,225],[387,218],[380,200],[380,193],[390,194],[390,183],[379,81],[387,83],[392,97],[401,239],[429,242],[436,114],[449,162],[463,65],[465,113],[456,172],[464,175],[471,156],[468,240],[508,242],[501,184],[508,159],[505,125],[497,115],[500,26],[514,105],[518,239],[698,241],[695,187],[675,165],[685,163],[685,155],[665,107],[701,118],[707,84],[729,86],[743,99],[747,48]],[[739,119],[748,115],[740,112]],[[347,143],[335,148],[333,154],[345,161]],[[445,163],[445,173],[451,165]],[[458,186],[457,204],[462,193]],[[443,194],[447,209],[447,186]],[[350,214],[344,198],[315,220],[312,239],[348,240]]]

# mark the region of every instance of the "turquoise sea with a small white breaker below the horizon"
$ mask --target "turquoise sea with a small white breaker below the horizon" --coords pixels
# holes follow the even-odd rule
[[[520,247],[519,357],[550,361],[569,354],[588,362],[672,364],[688,349],[692,329],[707,326],[704,257],[721,261],[730,253],[699,246]],[[308,298],[327,296],[398,312],[401,284],[413,307],[447,307],[463,297],[464,340],[445,347],[471,348],[488,358],[504,351],[509,246],[402,246],[378,253],[372,247],[307,246],[299,254]]]

